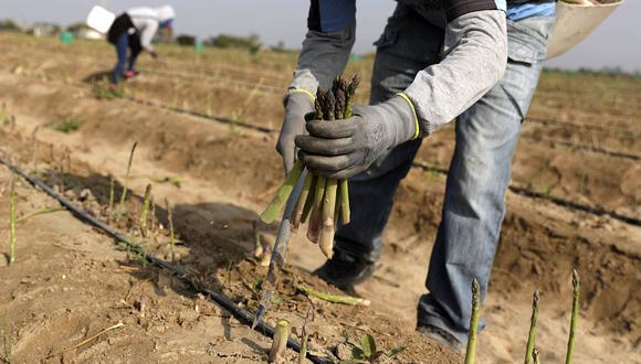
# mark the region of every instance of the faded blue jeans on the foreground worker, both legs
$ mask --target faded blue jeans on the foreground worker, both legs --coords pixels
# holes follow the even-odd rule
[[[471,283],[481,298],[487,282],[501,223],[505,190],[521,124],[536,89],[554,17],[508,21],[508,64],[503,78],[456,120],[456,146],[448,173],[442,220],[432,250],[418,324],[431,324],[466,342]],[[403,90],[414,75],[439,62],[443,32],[399,4],[378,45],[371,104]],[[408,141],[353,178],[351,223],[336,234],[336,249],[376,261],[393,194],[408,173],[421,141]],[[483,323],[482,323],[483,325]]]

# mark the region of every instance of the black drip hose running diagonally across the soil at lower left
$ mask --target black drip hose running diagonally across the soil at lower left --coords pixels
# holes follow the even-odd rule
[[[24,180],[27,180],[32,185],[44,191],[51,197],[56,200],[62,206],[64,206],[66,210],[69,210],[69,212],[71,212],[80,221],[103,231],[105,234],[109,235],[115,240],[127,245],[129,248],[132,248],[132,250],[144,256],[149,263],[155,264],[155,265],[159,266],[160,268],[165,268],[165,269],[169,270],[171,274],[178,276],[180,279],[182,279],[189,286],[191,286],[191,288],[193,290],[208,297],[210,300],[212,300],[218,306],[220,306],[223,309],[225,309],[227,311],[229,311],[231,314],[233,314],[233,317],[235,317],[239,321],[243,322],[248,326],[251,326],[251,324],[253,323],[254,315],[252,313],[250,313],[249,311],[240,308],[229,297],[224,296],[221,292],[214,291],[212,289],[204,288],[192,279],[188,279],[186,277],[186,271],[182,268],[175,266],[166,260],[162,260],[153,254],[148,254],[147,251],[145,251],[145,249],[143,247],[140,247],[139,245],[137,245],[135,243],[132,243],[130,239],[128,239],[125,235],[118,233],[116,229],[114,229],[109,225],[105,224],[104,222],[93,217],[86,211],[77,207],[69,199],[57,194],[46,183],[44,183],[43,181],[41,181],[32,175],[24,173],[20,168],[12,164],[11,162],[6,161],[4,159],[0,158],[0,163],[7,165],[11,171],[13,171],[15,174],[18,174],[21,178],[23,178]],[[267,338],[272,338],[274,335],[274,328],[270,324],[266,324],[263,321],[258,322],[254,330],[260,332],[261,334],[267,336]],[[301,352],[301,343],[296,340],[293,340],[290,338],[287,340],[287,346],[290,346],[291,349],[293,349],[294,351],[296,351],[298,353]],[[309,352],[307,352],[307,358],[309,361],[312,361],[312,363],[314,363],[314,364],[333,363],[332,361],[329,361],[325,357],[313,355]]]

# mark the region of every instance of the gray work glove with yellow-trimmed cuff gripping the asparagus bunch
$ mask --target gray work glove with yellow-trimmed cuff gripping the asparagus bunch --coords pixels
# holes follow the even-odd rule
[[[386,150],[416,137],[414,110],[400,96],[376,106],[356,105],[353,115],[308,121],[309,135],[296,137],[298,158],[312,173],[348,179],[367,170]]]

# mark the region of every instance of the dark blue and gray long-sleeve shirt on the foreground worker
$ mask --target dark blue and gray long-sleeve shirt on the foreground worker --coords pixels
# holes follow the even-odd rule
[[[421,135],[453,120],[502,77],[507,63],[505,0],[399,0],[443,29],[443,57],[404,90]],[[312,0],[292,88],[315,93],[343,73],[356,29],[355,0]],[[429,36],[429,35],[427,35]]]

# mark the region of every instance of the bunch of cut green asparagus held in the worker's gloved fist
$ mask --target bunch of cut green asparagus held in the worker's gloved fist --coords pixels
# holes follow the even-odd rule
[[[341,76],[334,79],[332,88],[316,92],[314,103],[317,120],[339,122],[351,117],[354,95],[360,77],[355,75],[350,82]],[[308,223],[307,238],[318,244],[327,258],[332,258],[334,233],[340,223],[349,224],[349,188],[347,180],[337,181],[309,173],[298,160],[287,174],[285,182],[261,215],[261,220],[272,223],[290,199],[294,186],[304,178],[303,189],[292,213],[292,227]]]

